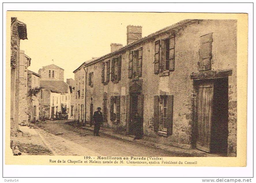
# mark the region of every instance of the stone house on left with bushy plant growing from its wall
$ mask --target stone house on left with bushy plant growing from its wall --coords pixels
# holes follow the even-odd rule
[[[28,81],[27,81],[27,92],[29,93],[30,89],[39,88],[40,87],[40,78],[41,76],[33,71],[28,70]],[[28,120],[38,121],[39,120],[39,111],[40,111],[40,95],[41,92],[37,94],[37,96],[28,96],[27,104],[28,104]]]

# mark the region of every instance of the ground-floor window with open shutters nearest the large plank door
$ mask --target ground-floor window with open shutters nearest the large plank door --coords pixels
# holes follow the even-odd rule
[[[154,131],[172,135],[173,95],[154,96]]]

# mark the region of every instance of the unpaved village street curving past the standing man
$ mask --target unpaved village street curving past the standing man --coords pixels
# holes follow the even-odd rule
[[[67,120],[40,122],[35,130],[54,155],[187,156],[105,135],[95,137]]]

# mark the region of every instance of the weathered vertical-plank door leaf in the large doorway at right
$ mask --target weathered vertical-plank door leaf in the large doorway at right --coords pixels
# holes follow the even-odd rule
[[[196,148],[210,152],[212,128],[213,84],[198,87],[197,96],[197,142]]]

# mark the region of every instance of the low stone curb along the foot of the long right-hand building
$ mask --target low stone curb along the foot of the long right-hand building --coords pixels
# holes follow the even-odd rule
[[[80,128],[86,129],[86,130],[90,130],[90,131],[93,132],[93,129],[86,128],[85,126],[80,126]],[[183,156],[183,157],[194,157],[193,155],[191,155],[191,154],[189,154],[189,153],[180,153],[180,152],[178,152],[178,151],[169,151],[169,150],[167,150],[167,149],[162,149],[162,148],[157,147],[157,146],[148,145],[148,144],[145,144],[145,143],[143,143],[143,142],[139,142],[139,141],[134,141],[134,140],[126,139],[126,138],[117,137],[117,136],[110,135],[110,134],[104,133],[104,132],[99,132],[99,134],[102,134],[102,135],[111,137],[111,138],[113,138],[113,139],[124,140],[124,141],[128,141],[128,142],[135,142],[135,143],[142,144],[142,145],[145,145],[145,146],[148,146],[148,147],[153,147],[153,148],[155,148],[155,149],[160,149],[160,150],[162,150],[162,151],[166,151],[166,152],[169,152],[169,153],[176,153],[176,154],[180,154],[180,155],[187,155],[187,156]]]

